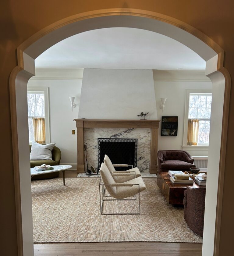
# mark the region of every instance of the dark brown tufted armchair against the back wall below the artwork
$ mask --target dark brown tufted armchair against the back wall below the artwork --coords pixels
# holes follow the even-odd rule
[[[168,172],[168,170],[188,171],[194,159],[183,150],[159,150],[158,151],[158,172]]]

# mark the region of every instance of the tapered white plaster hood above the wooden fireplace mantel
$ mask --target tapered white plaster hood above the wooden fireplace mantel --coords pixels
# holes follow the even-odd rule
[[[152,69],[84,69],[79,118],[158,119]]]

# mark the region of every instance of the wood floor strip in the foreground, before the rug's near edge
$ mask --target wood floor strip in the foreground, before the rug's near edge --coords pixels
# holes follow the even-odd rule
[[[202,244],[124,242],[34,244],[34,256],[200,256]]]

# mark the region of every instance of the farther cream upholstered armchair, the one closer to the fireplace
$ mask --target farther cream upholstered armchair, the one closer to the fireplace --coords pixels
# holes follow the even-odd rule
[[[120,174],[120,173],[130,173],[130,175],[124,176],[124,175],[112,175],[114,180],[118,183],[122,183],[128,180],[132,180],[134,178],[140,177],[140,171],[137,167],[129,169],[127,171],[116,171],[115,167],[128,167],[129,165],[126,164],[112,164],[111,159],[108,157],[108,155],[105,155],[104,157],[104,163],[107,166],[107,168],[109,169],[110,173],[112,174]]]

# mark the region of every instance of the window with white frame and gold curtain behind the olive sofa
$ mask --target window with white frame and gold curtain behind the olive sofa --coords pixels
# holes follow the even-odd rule
[[[29,142],[49,143],[48,88],[28,88]]]

